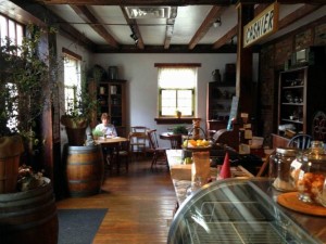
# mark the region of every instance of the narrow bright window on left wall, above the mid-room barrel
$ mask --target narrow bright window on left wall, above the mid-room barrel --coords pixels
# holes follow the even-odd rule
[[[64,110],[66,114],[77,111],[77,95],[80,94],[82,57],[67,50],[63,50],[64,55]]]

